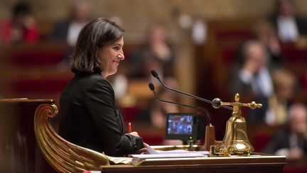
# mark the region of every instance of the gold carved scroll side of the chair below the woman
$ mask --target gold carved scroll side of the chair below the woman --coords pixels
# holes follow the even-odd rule
[[[47,162],[58,172],[82,172],[99,170],[101,165],[109,165],[103,153],[95,152],[64,140],[55,132],[48,118],[58,115],[54,104],[41,104],[34,115],[36,141]]]

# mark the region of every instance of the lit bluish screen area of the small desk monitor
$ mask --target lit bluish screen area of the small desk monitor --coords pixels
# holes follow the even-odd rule
[[[192,135],[193,115],[169,115],[167,128],[169,135]]]

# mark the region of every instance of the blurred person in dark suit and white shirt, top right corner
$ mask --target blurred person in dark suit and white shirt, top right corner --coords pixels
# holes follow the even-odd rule
[[[294,0],[277,0],[276,14],[269,17],[276,27],[279,39],[283,42],[295,42],[306,35],[306,20],[295,14]]]

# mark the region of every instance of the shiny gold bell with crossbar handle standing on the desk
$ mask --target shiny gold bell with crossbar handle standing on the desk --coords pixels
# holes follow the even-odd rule
[[[242,116],[240,107],[245,106],[252,109],[262,108],[262,104],[254,101],[251,103],[239,103],[239,94],[235,95],[235,103],[223,103],[233,107],[232,117],[227,120],[226,132],[220,145],[215,147],[215,153],[224,156],[249,155],[254,151],[247,137],[247,123]]]

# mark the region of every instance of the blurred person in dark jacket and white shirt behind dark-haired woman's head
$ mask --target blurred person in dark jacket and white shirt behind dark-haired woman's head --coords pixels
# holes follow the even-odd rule
[[[59,41],[69,46],[68,54],[63,63],[68,63],[69,57],[77,43],[77,36],[85,24],[90,21],[91,5],[89,0],[74,0],[70,16],[55,23],[50,41]]]

